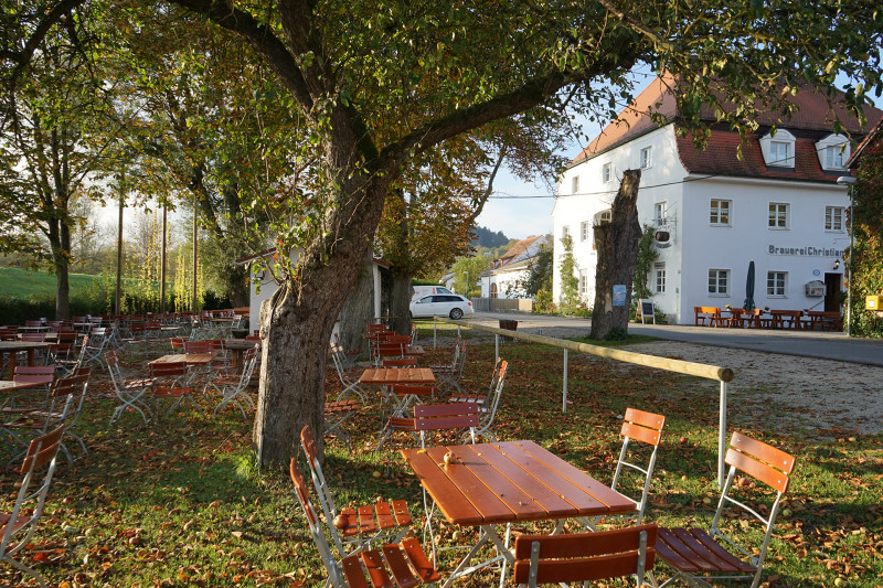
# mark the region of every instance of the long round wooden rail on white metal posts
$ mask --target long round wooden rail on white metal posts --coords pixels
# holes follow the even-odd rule
[[[708,365],[704,363],[694,363],[694,362],[685,362],[682,360],[671,360],[668,357],[658,357],[656,355],[646,355],[643,353],[635,353],[631,351],[623,351],[611,348],[602,348],[598,345],[577,343],[576,341],[567,341],[564,339],[555,339],[552,336],[535,335],[531,333],[524,333],[521,331],[509,331],[507,329],[498,329],[496,327],[471,323],[464,320],[453,321],[449,319],[443,319],[440,317],[436,317],[435,322],[433,324],[433,348],[436,346],[436,336],[437,336],[436,331],[438,322],[455,324],[457,327],[458,334],[461,327],[467,327],[469,329],[475,329],[477,331],[493,333],[497,357],[500,356],[500,336],[521,339],[524,341],[530,341],[532,343],[552,345],[554,348],[560,348],[564,350],[564,376],[562,382],[562,406],[561,406],[562,413],[567,411],[567,353],[570,351],[575,351],[578,353],[588,353],[591,355],[607,357],[619,362],[643,365],[647,367],[655,367],[657,370],[666,370],[667,372],[675,372],[679,374],[703,377],[706,379],[715,379],[720,382],[721,395],[720,395],[719,432],[717,432],[717,485],[723,488],[724,470],[725,470],[724,457],[726,455],[727,383],[732,382],[733,377],[735,377],[735,373],[730,367],[720,367],[716,365]]]

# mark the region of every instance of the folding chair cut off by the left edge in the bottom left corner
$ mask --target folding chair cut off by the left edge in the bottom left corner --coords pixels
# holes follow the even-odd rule
[[[52,483],[52,475],[55,473],[55,458],[61,445],[64,427],[58,427],[51,432],[41,435],[31,440],[28,445],[24,462],[19,472],[23,474],[19,494],[12,512],[0,513],[0,560],[8,563],[12,567],[28,574],[45,587],[43,577],[34,569],[25,566],[15,555],[31,543],[31,537],[36,531],[36,523],[43,513],[43,504],[46,501],[49,487]],[[31,491],[31,482],[38,471],[45,467],[46,474],[43,483],[34,491]],[[14,542],[14,543],[13,543]]]

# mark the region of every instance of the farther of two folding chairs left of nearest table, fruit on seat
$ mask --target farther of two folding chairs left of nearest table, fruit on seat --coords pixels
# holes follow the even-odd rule
[[[300,431],[300,445],[307,456],[312,484],[319,496],[319,504],[326,520],[332,524],[332,541],[341,556],[347,555],[347,547],[352,553],[369,549],[374,542],[397,543],[411,530],[412,517],[407,501],[379,501],[358,509],[338,511],[328,481],[319,463],[316,439],[309,426]]]

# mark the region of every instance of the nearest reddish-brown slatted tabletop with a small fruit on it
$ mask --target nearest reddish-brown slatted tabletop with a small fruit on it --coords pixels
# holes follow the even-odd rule
[[[445,466],[450,450],[456,463]],[[457,525],[625,513],[635,503],[533,441],[404,449],[421,484]]]

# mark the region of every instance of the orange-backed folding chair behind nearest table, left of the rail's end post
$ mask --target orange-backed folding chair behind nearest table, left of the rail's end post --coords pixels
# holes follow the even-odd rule
[[[635,503],[635,506],[637,506],[637,512],[620,515],[620,517],[635,517],[636,525],[641,524],[641,521],[643,520],[643,512],[647,509],[647,498],[650,494],[650,484],[653,479],[653,468],[656,467],[656,456],[657,451],[659,450],[659,443],[662,439],[662,427],[664,425],[666,417],[662,415],[645,413],[643,410],[637,410],[635,408],[626,408],[626,416],[623,419],[623,429],[620,430],[620,435],[623,436],[623,449],[619,451],[619,460],[616,462],[616,472],[614,473],[614,481],[610,484],[610,488],[623,494],[623,491],[617,487],[619,485],[621,479],[624,466],[643,474],[643,490],[641,491],[640,500],[626,496]],[[650,452],[650,458],[646,468],[637,463],[626,461],[627,458],[632,459],[629,458],[629,443],[631,441],[640,441],[652,447],[652,451]],[[594,531],[595,523],[600,521],[600,518],[579,518],[578,521]],[[607,518],[607,521],[609,521],[609,518]]]

